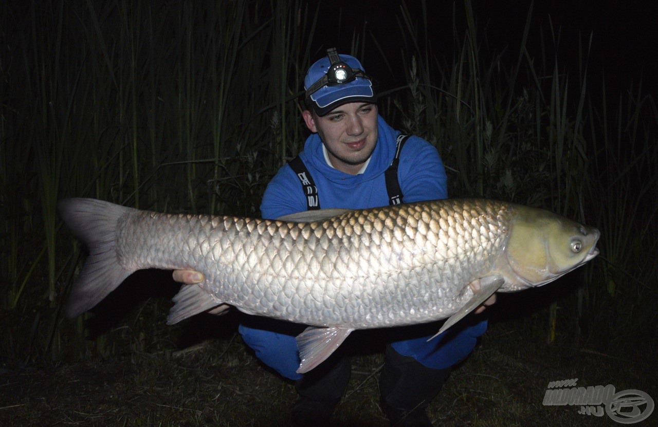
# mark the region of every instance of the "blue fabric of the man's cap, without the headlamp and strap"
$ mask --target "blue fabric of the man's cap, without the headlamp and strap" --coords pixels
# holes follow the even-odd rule
[[[357,78],[351,82],[336,84],[335,86],[325,84],[322,88],[308,95],[307,100],[311,101],[313,109],[318,116],[324,116],[324,114],[346,103],[358,101],[367,103],[377,102],[377,96],[372,89],[372,82],[370,78],[365,76],[359,60],[350,55],[340,55],[340,60],[353,68],[353,70],[359,70],[361,72],[357,72]],[[313,84],[322,79],[327,74],[331,65],[332,63],[328,57],[324,57],[311,65],[304,78],[304,89],[308,90]]]

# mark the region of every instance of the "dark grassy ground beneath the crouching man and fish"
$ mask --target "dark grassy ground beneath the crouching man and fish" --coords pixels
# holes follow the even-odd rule
[[[437,426],[615,426],[580,406],[543,404],[551,381],[613,384],[658,400],[655,349],[609,353],[546,343],[538,321],[490,322],[474,353],[453,370],[428,409]],[[541,326],[539,326],[541,329]],[[382,354],[353,358],[336,426],[386,426],[378,404]],[[2,426],[284,426],[293,385],[245,350],[239,334],[179,350],[132,350],[111,359],[28,366],[0,373]],[[658,413],[640,425],[658,425]]]

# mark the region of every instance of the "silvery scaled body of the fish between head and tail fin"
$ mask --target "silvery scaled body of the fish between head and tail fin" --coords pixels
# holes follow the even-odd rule
[[[375,316],[382,307],[370,301],[392,301],[386,310],[402,313],[415,305],[422,289],[432,287],[430,282],[473,280],[473,267],[481,266],[499,247],[500,239],[482,236],[478,229],[485,223],[487,228],[499,228],[500,220],[490,222],[504,213],[501,206],[488,203],[462,207],[471,216],[466,224],[473,226],[476,222],[478,226],[467,232],[462,226],[465,215],[437,203],[354,211],[332,220],[292,225],[133,211],[122,219],[117,247],[122,259],[132,260],[122,264],[126,270],[196,268],[208,279],[203,289],[216,301],[249,313],[266,313],[306,324],[390,326],[399,324],[399,320],[389,313]],[[424,224],[424,234],[418,232],[418,224]],[[368,229],[372,230],[370,234],[365,233]],[[372,236],[377,232],[380,238]],[[488,250],[466,250],[475,246]],[[446,263],[448,258],[451,263]],[[320,268],[322,265],[325,268]],[[400,282],[405,283],[406,299],[395,291]],[[272,284],[278,289],[272,289]],[[276,295],[291,294],[287,289],[293,289],[291,304],[304,307],[299,313],[280,313],[274,308]],[[405,322],[432,320],[445,312],[451,304],[445,298],[447,289],[442,290],[436,301],[427,295],[422,301],[426,307],[416,307]],[[332,296],[339,293],[343,305],[336,304]],[[357,305],[367,308],[354,309]],[[428,308],[433,313],[428,313]],[[374,317],[379,319],[372,320]]]

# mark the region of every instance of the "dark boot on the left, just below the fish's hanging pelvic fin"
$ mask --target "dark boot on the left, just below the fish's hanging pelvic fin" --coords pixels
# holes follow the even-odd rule
[[[295,382],[299,400],[292,407],[292,426],[329,426],[334,408],[347,387],[351,361],[333,357]]]

